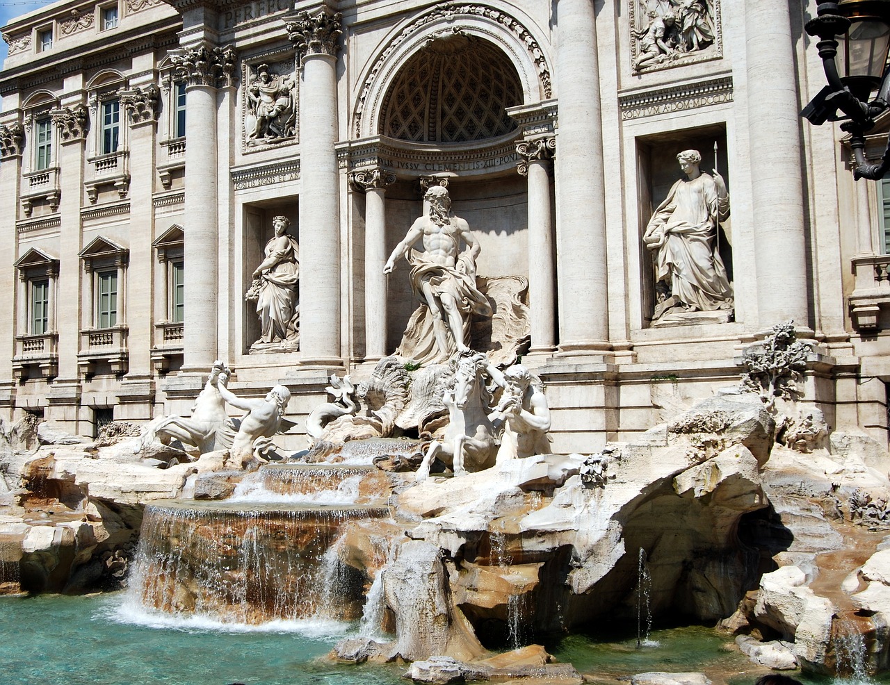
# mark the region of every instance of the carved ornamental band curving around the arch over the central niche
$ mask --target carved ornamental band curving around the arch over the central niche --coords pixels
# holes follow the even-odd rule
[[[635,2],[636,0],[634,0]],[[355,134],[361,134],[361,115],[365,110],[365,101],[368,98],[368,93],[370,93],[371,85],[379,73],[380,69],[383,68],[386,60],[389,59],[392,52],[394,52],[400,44],[402,44],[405,40],[407,40],[410,36],[417,33],[417,31],[424,28],[427,24],[441,19],[447,19],[449,21],[457,20],[461,17],[471,17],[478,18],[484,17],[485,19],[495,21],[498,24],[508,28],[514,36],[516,36],[522,44],[525,45],[526,50],[529,51],[531,59],[535,62],[535,65],[538,68],[538,81],[541,85],[541,90],[544,92],[544,99],[548,99],[553,97],[553,86],[550,82],[550,66],[547,64],[546,57],[544,56],[544,52],[541,50],[538,41],[535,40],[535,37],[532,36],[527,28],[522,26],[522,24],[511,17],[509,14],[505,12],[501,12],[500,10],[496,10],[492,7],[487,7],[482,4],[457,4],[457,3],[441,3],[437,4],[433,7],[432,10],[427,12],[424,16],[420,17],[417,21],[412,23],[409,27],[405,28],[398,36],[392,39],[390,44],[386,46],[384,52],[380,53],[380,56],[377,58],[374,63],[374,67],[368,73],[368,77],[365,79],[365,84],[361,89],[361,95],[359,97],[358,107],[355,109],[355,117],[353,120],[353,126],[355,129]]]

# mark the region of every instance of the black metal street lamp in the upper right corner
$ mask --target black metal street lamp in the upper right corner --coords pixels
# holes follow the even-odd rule
[[[856,167],[854,178],[876,181],[890,171],[890,140],[880,164],[865,161],[865,134],[875,118],[890,109],[890,0],[822,2],[806,32],[819,36],[816,44],[829,85],[801,112],[813,125],[841,121],[850,133]],[[869,101],[871,93],[877,97]]]

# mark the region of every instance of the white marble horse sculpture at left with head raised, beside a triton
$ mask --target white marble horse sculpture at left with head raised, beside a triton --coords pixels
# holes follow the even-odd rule
[[[154,440],[167,444],[176,439],[198,448],[199,454],[228,446],[234,427],[225,411],[221,394],[231,371],[222,361],[214,362],[204,390],[191,407],[190,416],[159,416],[149,423],[134,445],[135,453],[145,453]]]

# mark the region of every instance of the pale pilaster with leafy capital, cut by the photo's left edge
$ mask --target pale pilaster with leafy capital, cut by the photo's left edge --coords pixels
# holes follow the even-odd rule
[[[21,187],[21,150],[24,147],[25,131],[19,121],[0,125],[0,189],[7,199],[7,209],[0,213],[0,292],[12,297],[20,280],[16,278],[15,219],[18,214],[18,201]],[[24,252],[24,250],[22,251]],[[24,296],[18,299],[19,318],[22,311],[28,311],[27,288]],[[9,302],[7,300],[7,302]],[[12,308],[6,310],[6,316],[0,317],[0,405],[12,400],[12,357],[15,356],[15,335],[24,333],[26,328],[20,326],[16,331]],[[9,416],[7,416],[9,418]]]

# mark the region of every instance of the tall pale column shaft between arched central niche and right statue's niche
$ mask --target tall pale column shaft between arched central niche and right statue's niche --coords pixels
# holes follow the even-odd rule
[[[609,349],[603,123],[593,0],[559,0],[556,227],[559,346]]]

